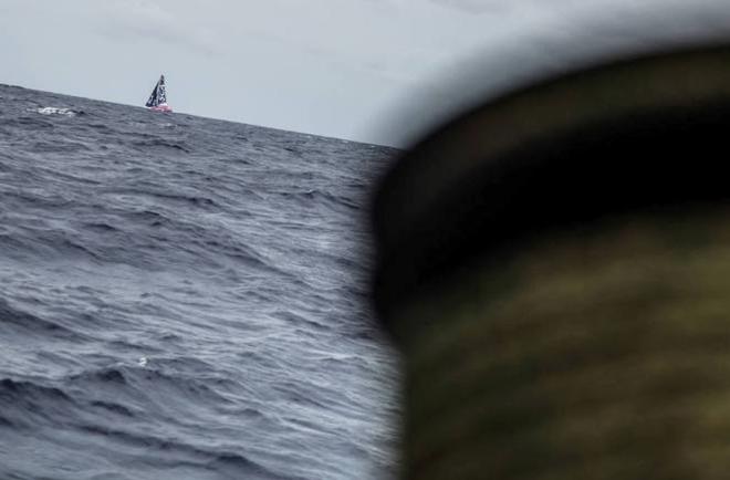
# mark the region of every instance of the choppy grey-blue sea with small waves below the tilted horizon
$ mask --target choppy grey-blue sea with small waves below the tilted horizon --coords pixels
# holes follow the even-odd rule
[[[0,86],[0,478],[392,477],[394,154]]]

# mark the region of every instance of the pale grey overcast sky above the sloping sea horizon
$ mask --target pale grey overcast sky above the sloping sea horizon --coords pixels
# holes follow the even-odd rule
[[[165,73],[179,112],[403,145],[521,75],[727,30],[729,10],[727,0],[0,0],[0,83],[143,105]]]

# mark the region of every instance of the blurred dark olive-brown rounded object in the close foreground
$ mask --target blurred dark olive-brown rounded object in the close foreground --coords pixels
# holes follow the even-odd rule
[[[404,476],[730,472],[730,46],[583,70],[432,133],[374,206]]]

